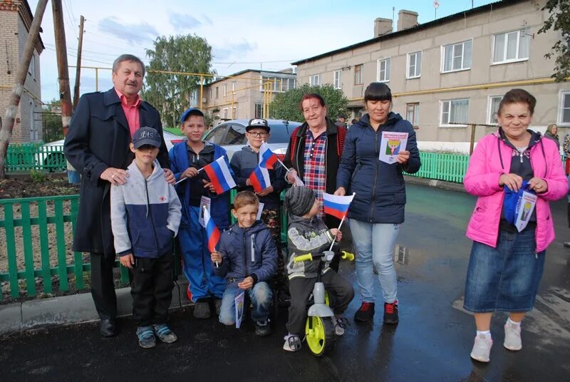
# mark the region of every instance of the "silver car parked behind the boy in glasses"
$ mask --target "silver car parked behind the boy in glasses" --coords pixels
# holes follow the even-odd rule
[[[245,127],[248,123],[249,120],[228,120],[220,123],[204,135],[204,140],[222,146],[226,149],[228,158],[232,159],[234,153],[242,150],[242,147],[247,145]],[[292,120],[273,119],[267,120],[267,123],[271,127],[271,137],[268,142],[269,148],[280,160],[283,160],[287,151],[287,145],[289,145],[289,137],[301,123]]]

